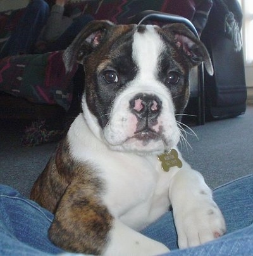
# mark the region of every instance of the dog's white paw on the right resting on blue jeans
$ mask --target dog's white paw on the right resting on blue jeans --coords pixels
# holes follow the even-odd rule
[[[180,248],[201,245],[226,232],[224,217],[213,200],[198,202],[174,217]]]

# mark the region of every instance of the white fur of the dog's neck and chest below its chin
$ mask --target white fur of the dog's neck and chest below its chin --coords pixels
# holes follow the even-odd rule
[[[177,167],[164,172],[157,155],[110,150],[90,131],[82,114],[71,125],[68,142],[75,160],[89,162],[89,172],[102,182],[102,203],[127,226],[142,229],[168,210],[168,190]]]

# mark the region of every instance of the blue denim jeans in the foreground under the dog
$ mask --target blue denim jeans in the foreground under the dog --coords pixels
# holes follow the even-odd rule
[[[178,250],[173,215],[168,212],[142,231],[172,250],[170,255],[252,255],[253,175],[214,190],[214,200],[223,212],[227,233],[201,246]],[[0,186],[0,255],[68,254],[52,245],[47,229],[53,215],[18,191]],[[70,253],[75,255],[75,253]]]

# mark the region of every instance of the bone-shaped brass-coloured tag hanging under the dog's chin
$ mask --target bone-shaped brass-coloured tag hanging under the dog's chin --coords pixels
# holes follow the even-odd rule
[[[178,158],[178,152],[174,149],[170,152],[165,152],[162,155],[159,155],[158,159],[161,162],[164,172],[168,172],[170,168],[174,166],[177,166],[178,168],[183,166],[183,163]]]

